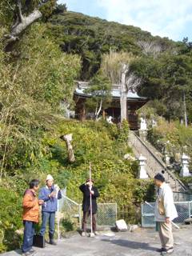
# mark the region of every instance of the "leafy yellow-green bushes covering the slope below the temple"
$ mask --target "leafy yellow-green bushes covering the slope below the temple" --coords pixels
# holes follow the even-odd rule
[[[39,155],[31,166],[17,170],[12,178],[3,179],[4,185],[0,191],[1,232],[6,236],[14,235],[15,231],[22,227],[22,194],[32,178],[40,179],[44,186],[46,175],[50,173],[61,188],[67,188],[69,198],[82,202],[82,192],[78,186],[89,177],[90,162],[93,178],[100,192],[98,202],[118,202],[119,214],[126,211],[127,222],[138,222],[140,203],[153,193],[151,182],[141,182],[137,179],[138,162],[123,158],[124,154],[131,151],[127,144],[128,132],[127,123],[118,130],[115,125],[93,121],[60,121],[57,126],[45,131],[42,147],[50,154]],[[73,164],[68,162],[66,143],[60,139],[61,135],[69,133],[73,134],[72,143],[76,158]],[[64,219],[63,231],[73,230],[73,223],[70,219]],[[3,239],[2,250],[14,249],[20,242],[21,238],[15,240],[14,244]]]

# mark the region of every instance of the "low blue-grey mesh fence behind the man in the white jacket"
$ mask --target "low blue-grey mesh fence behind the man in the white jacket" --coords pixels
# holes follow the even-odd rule
[[[151,206],[154,206],[154,202],[150,202]],[[192,202],[174,202],[178,211],[178,218],[174,219],[175,223],[183,223],[186,218],[192,216]],[[142,226],[154,227],[154,209],[147,204],[142,204]]]

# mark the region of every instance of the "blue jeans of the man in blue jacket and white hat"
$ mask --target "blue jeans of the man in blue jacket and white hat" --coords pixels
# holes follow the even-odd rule
[[[51,239],[54,238],[54,221],[55,212],[42,211],[42,227],[39,234],[44,235],[46,233],[46,225],[49,222],[49,235]]]

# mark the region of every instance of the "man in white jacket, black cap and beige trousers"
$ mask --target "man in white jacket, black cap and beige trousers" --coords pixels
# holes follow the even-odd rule
[[[174,237],[171,221],[178,217],[174,206],[173,192],[162,174],[154,176],[154,184],[157,186],[157,198],[155,202],[154,218],[162,248],[158,250],[162,255],[172,254],[174,251]]]

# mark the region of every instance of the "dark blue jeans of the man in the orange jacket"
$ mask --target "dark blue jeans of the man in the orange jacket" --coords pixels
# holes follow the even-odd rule
[[[22,252],[26,253],[27,251],[31,250],[33,246],[34,240],[34,222],[24,221],[24,236],[22,242]]]

